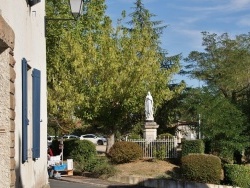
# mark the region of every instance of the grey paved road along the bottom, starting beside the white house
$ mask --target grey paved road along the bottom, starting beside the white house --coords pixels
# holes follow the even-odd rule
[[[145,188],[143,186],[126,185],[98,179],[86,179],[80,183],[50,179],[49,182],[51,188]]]

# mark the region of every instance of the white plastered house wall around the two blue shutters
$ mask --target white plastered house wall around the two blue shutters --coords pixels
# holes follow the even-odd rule
[[[15,33],[14,59],[16,80],[15,161],[16,187],[39,188],[48,182],[47,176],[47,94],[46,94],[46,46],[45,1],[30,7],[26,0],[0,0],[0,13]],[[28,98],[28,162],[22,163],[22,77],[21,60],[26,58],[31,68],[41,70],[41,158],[32,159],[32,99]],[[31,84],[31,72],[28,83]],[[29,87],[31,88],[31,87]]]

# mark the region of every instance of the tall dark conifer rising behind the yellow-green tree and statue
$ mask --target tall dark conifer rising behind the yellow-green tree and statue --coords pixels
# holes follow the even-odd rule
[[[143,31],[146,29],[149,30],[150,34],[146,35],[145,40],[150,40],[152,47],[154,45],[155,51],[158,55],[158,63],[160,64],[161,69],[169,71],[178,70],[181,55],[177,54],[174,56],[169,56],[167,50],[161,47],[161,35],[164,32],[164,29],[167,28],[167,25],[165,25],[162,21],[156,20],[155,18],[157,16],[145,8],[142,0],[136,0],[132,9],[134,11],[129,14],[131,20],[127,22],[128,26],[126,27],[126,29],[128,29],[128,31],[130,32],[133,32],[135,28],[138,31]],[[173,85],[169,82],[172,75],[169,75],[167,82],[167,87],[171,91],[172,97],[163,100],[155,110],[155,121],[160,125],[160,128],[158,129],[159,132],[166,131],[167,125],[169,125],[169,123],[172,123],[172,117],[170,117],[170,113],[173,114],[173,111],[168,113],[170,109],[169,103],[177,98],[177,96],[185,86],[184,83],[180,83],[175,84],[175,86],[173,87]]]

